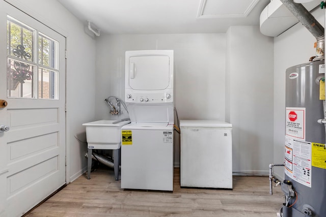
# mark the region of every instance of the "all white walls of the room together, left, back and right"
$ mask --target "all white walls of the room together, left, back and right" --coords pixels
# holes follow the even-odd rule
[[[227,34],[101,35],[95,42],[55,0],[9,2],[67,37],[68,179],[86,167],[86,145],[74,138],[85,140],[82,123],[112,118],[107,96],[124,99],[126,50],[175,50],[179,119],[231,122],[235,171],[265,173],[269,163],[283,162],[285,70],[314,55],[315,39],[301,24],[274,39],[273,57],[273,41],[258,26],[232,26]],[[313,14],[323,24],[323,11]]]

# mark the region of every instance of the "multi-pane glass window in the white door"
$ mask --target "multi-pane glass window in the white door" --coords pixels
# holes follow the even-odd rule
[[[7,17],[7,96],[58,99],[59,43]]]

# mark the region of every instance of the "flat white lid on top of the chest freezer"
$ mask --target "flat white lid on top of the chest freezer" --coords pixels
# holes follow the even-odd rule
[[[180,120],[180,128],[232,128],[232,124],[221,120]]]

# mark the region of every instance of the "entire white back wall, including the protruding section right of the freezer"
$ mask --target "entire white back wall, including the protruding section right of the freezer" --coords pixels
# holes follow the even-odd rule
[[[96,119],[117,118],[110,117],[103,100],[124,99],[125,51],[146,49],[175,51],[179,119],[227,118],[234,129],[234,171],[267,174],[273,162],[273,38],[261,35],[258,26],[234,26],[227,35],[102,35],[97,39]]]

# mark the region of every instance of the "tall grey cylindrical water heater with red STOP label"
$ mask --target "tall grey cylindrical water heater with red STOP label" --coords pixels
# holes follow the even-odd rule
[[[283,217],[326,216],[324,72],[324,60],[286,70]]]

